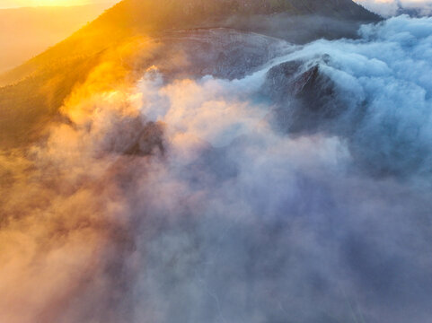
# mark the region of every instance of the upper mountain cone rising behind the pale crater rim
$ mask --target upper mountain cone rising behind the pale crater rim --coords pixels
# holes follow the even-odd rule
[[[48,60],[93,54],[133,35],[222,25],[236,27],[235,22],[228,22],[228,17],[275,13],[316,14],[360,22],[379,19],[351,0],[125,0],[54,48],[1,75],[0,85],[16,82]],[[253,30],[252,25],[248,27]]]

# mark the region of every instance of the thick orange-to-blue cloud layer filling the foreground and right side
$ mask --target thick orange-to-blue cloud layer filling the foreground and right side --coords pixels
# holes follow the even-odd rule
[[[93,75],[0,156],[0,320],[428,322],[431,31],[285,44],[233,80]]]

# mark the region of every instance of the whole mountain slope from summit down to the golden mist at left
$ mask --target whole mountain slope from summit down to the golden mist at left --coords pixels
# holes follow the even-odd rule
[[[307,20],[306,15],[325,20]],[[163,55],[148,49],[154,48],[148,38],[157,39],[166,31],[228,27],[309,41],[349,37],[358,23],[378,20],[350,0],[124,0],[57,46],[0,76],[0,86],[9,84],[0,88],[0,143],[13,145],[37,137],[42,120],[56,116],[76,84],[96,66],[112,67],[104,72],[111,83],[129,77],[137,66],[147,68],[151,57]],[[332,26],[334,22],[343,25]],[[292,38],[303,30],[310,30],[304,39]]]

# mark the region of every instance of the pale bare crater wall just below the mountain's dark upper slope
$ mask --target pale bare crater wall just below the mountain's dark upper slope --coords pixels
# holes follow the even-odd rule
[[[218,28],[211,30],[173,31],[166,33],[161,42],[161,61],[153,64],[160,67],[164,77],[201,77],[234,80],[252,74],[274,57],[287,52],[287,42],[264,35]],[[181,53],[179,60],[169,64],[167,51]]]

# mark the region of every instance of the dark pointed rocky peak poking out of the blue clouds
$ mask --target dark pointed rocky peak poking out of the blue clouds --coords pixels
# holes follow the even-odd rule
[[[326,59],[322,57],[321,61]],[[346,109],[335,83],[322,73],[320,64],[289,61],[269,70],[262,91],[275,103],[272,118],[282,130],[289,133],[331,130],[331,122]]]

